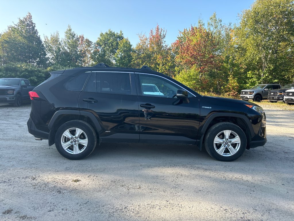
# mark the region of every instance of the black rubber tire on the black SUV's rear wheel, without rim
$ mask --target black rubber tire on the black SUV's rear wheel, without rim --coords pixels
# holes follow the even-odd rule
[[[75,139],[74,137],[74,133],[77,131],[75,128],[81,129],[83,131],[83,133],[79,135],[78,139]],[[76,142],[78,151],[81,150],[80,153],[77,153],[77,154],[74,154],[74,152],[69,153],[71,151],[74,151],[74,143],[68,144],[71,146],[67,148],[67,151],[62,147],[62,144],[61,144],[62,139],[64,140],[64,144],[70,141],[69,138],[67,138],[66,136],[63,136],[63,133],[66,130],[69,130],[69,132],[71,132],[71,135],[73,136],[73,139],[72,139],[73,141],[80,140],[81,142],[81,139],[87,138],[86,146],[81,143],[78,143],[79,141]],[[70,142],[73,142],[73,141],[70,141]],[[93,129],[93,127],[85,121],[74,120],[74,121],[66,122],[59,127],[59,129],[57,130],[55,134],[56,149],[62,156],[71,160],[79,160],[89,156],[95,149],[96,143],[97,143],[96,132]]]

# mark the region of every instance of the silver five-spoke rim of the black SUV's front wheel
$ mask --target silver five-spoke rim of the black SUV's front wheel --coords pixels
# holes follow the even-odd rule
[[[221,156],[233,156],[240,149],[240,145],[240,137],[230,130],[221,131],[213,141],[214,149]]]

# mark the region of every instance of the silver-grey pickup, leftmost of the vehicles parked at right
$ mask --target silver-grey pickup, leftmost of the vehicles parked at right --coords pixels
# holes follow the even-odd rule
[[[259,84],[251,89],[241,90],[240,98],[242,100],[252,99],[253,101],[261,101],[268,98],[268,91],[273,89],[280,89],[279,84]]]

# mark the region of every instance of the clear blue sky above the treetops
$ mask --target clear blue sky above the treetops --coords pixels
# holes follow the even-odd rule
[[[96,41],[100,32],[122,30],[133,46],[138,33],[150,32],[158,23],[167,30],[166,43],[176,40],[179,30],[197,24],[201,17],[206,23],[215,11],[224,23],[238,23],[238,14],[249,9],[253,0],[206,1],[2,1],[0,7],[0,33],[17,23],[28,12],[42,39],[44,35],[59,31],[64,36],[68,24],[74,32]]]

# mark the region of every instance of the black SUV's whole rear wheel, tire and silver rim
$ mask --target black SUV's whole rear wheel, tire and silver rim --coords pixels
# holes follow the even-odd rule
[[[64,123],[55,135],[58,152],[67,159],[79,160],[90,155],[96,147],[97,136],[93,127],[85,121]]]

